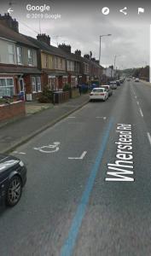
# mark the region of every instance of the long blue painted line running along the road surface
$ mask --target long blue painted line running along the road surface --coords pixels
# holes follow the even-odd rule
[[[107,140],[108,140],[109,133],[111,131],[112,126],[113,126],[113,119],[110,119],[109,124],[107,126],[107,130],[105,131],[105,134],[102,139],[101,148],[99,149],[99,152],[96,157],[96,162],[92,167],[92,170],[90,172],[90,177],[88,179],[88,182],[86,183],[84,193],[81,197],[81,201],[78,205],[77,212],[75,213],[72,225],[68,232],[67,240],[65,241],[64,245],[61,247],[61,254],[60,254],[61,256],[71,256],[73,253],[73,248],[78,236],[78,231],[80,229],[82,220],[84,218],[84,213],[86,211],[86,207],[90,199],[90,192],[93,189],[93,185],[96,179],[97,172],[99,170],[99,166],[102,164],[102,156],[106,149]]]

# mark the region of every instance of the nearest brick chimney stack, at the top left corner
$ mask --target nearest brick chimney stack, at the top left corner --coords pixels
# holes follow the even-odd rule
[[[13,20],[13,18],[9,14],[0,15],[0,24],[3,26],[8,26],[15,32],[19,32],[19,23],[17,20]]]

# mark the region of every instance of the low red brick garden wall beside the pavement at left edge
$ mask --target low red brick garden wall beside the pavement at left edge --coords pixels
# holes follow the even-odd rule
[[[22,117],[25,114],[25,102],[18,101],[0,105],[0,121]]]

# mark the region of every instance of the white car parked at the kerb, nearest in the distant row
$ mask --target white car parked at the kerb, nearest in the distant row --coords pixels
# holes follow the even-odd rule
[[[105,102],[108,98],[108,92],[105,88],[94,88],[90,92],[90,101],[92,100],[102,100]]]

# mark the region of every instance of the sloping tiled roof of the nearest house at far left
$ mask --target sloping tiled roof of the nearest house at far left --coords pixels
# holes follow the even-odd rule
[[[17,43],[26,44],[27,46],[38,49],[38,46],[33,44],[30,40],[28,40],[26,36],[20,34],[19,32],[15,32],[8,26],[3,26],[2,24],[0,24],[0,38],[6,38]]]

